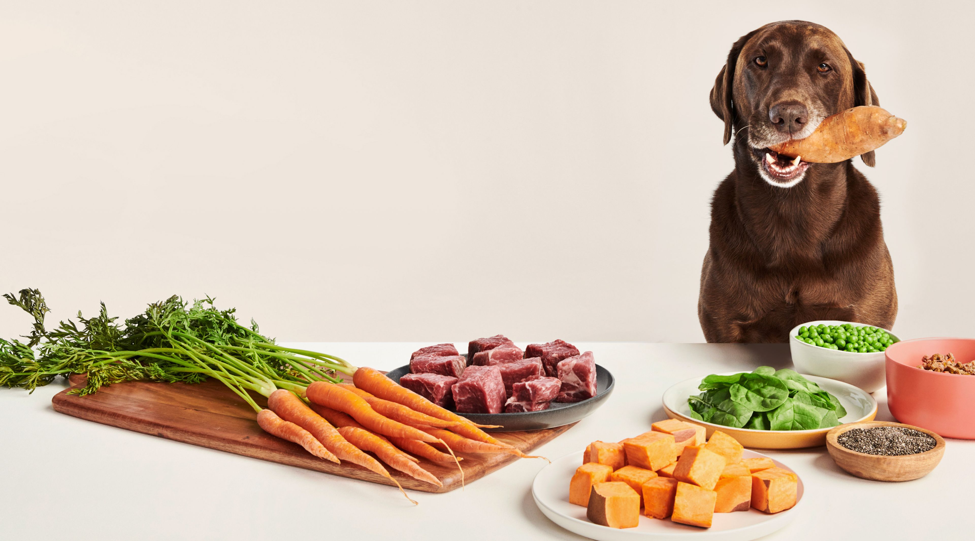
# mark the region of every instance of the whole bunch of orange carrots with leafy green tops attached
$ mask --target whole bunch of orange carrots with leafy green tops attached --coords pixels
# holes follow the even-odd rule
[[[48,330],[44,315],[49,310],[40,291],[4,296],[35,323],[24,336],[26,343],[0,339],[0,385],[33,390],[59,376],[87,373],[88,385],[76,390],[86,395],[101,385],[137,379],[194,383],[214,378],[254,408],[264,431],[322,459],[358,464],[401,491],[389,471],[364,451],[437,486],[443,483],[413,455],[456,464],[461,480],[461,459],[454,451],[528,457],[482,430],[490,427],[431,403],[378,370],[275,344],[253,321],[250,328],[239,325],[233,309],[216,309],[211,298],[188,304],[174,296],[150,304],[124,326],[102,304],[97,317],[85,319],[79,313],[80,328],[68,320]],[[344,383],[340,374],[351,375],[353,384]],[[257,405],[251,392],[266,397],[267,407]]]

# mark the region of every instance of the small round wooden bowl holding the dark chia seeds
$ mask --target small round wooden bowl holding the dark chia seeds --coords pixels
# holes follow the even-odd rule
[[[917,454],[901,456],[881,456],[850,450],[839,443],[839,435],[854,428],[873,428],[877,426],[899,426],[912,428],[934,438],[934,448]],[[930,430],[903,423],[886,421],[865,421],[839,425],[826,435],[826,448],[837,466],[856,477],[873,481],[912,481],[930,473],[941,462],[945,454],[945,440]]]

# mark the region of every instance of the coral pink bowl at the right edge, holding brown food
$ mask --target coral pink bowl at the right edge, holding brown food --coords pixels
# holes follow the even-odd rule
[[[887,406],[902,423],[944,438],[975,440],[975,375],[918,368],[925,355],[952,353],[958,363],[975,359],[973,338],[917,338],[887,348]]]

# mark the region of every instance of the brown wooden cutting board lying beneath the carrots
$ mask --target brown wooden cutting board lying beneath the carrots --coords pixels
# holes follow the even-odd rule
[[[84,375],[73,375],[69,381],[71,389],[85,386]],[[61,391],[52,399],[56,411],[176,442],[371,483],[392,484],[361,466],[348,462],[335,464],[311,455],[298,444],[265,433],[257,426],[254,409],[218,381],[208,380],[195,385],[131,381],[102,387],[98,393],[87,397],[69,395],[68,391],[70,389]],[[264,397],[254,395],[254,400],[260,406],[267,404]],[[494,433],[492,436],[527,453],[552,441],[574,424],[546,430]],[[464,468],[465,483],[518,459],[511,454],[457,453],[457,456],[463,457],[460,464]],[[420,466],[437,476],[444,486],[416,481],[392,468],[387,469],[404,488],[448,492],[460,486],[460,472],[456,466],[447,467],[423,458],[420,458]]]

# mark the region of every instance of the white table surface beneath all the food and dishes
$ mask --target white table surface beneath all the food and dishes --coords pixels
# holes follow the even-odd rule
[[[404,365],[422,345],[301,344],[380,369]],[[603,407],[535,451],[550,458],[649,430],[666,418],[661,395],[677,381],[791,366],[785,345],[577,345],[615,375],[616,389]],[[0,539],[584,539],[535,507],[530,486],[542,460],[518,460],[464,490],[410,492],[419,502],[413,507],[388,486],[62,415],[51,398],[64,387],[56,382],[32,395],[0,389]],[[875,397],[878,419],[893,420],[885,391]],[[947,442],[941,464],[908,483],[847,475],[825,447],[768,451],[800,474],[807,501],[796,522],[766,539],[968,537],[975,441]]]

